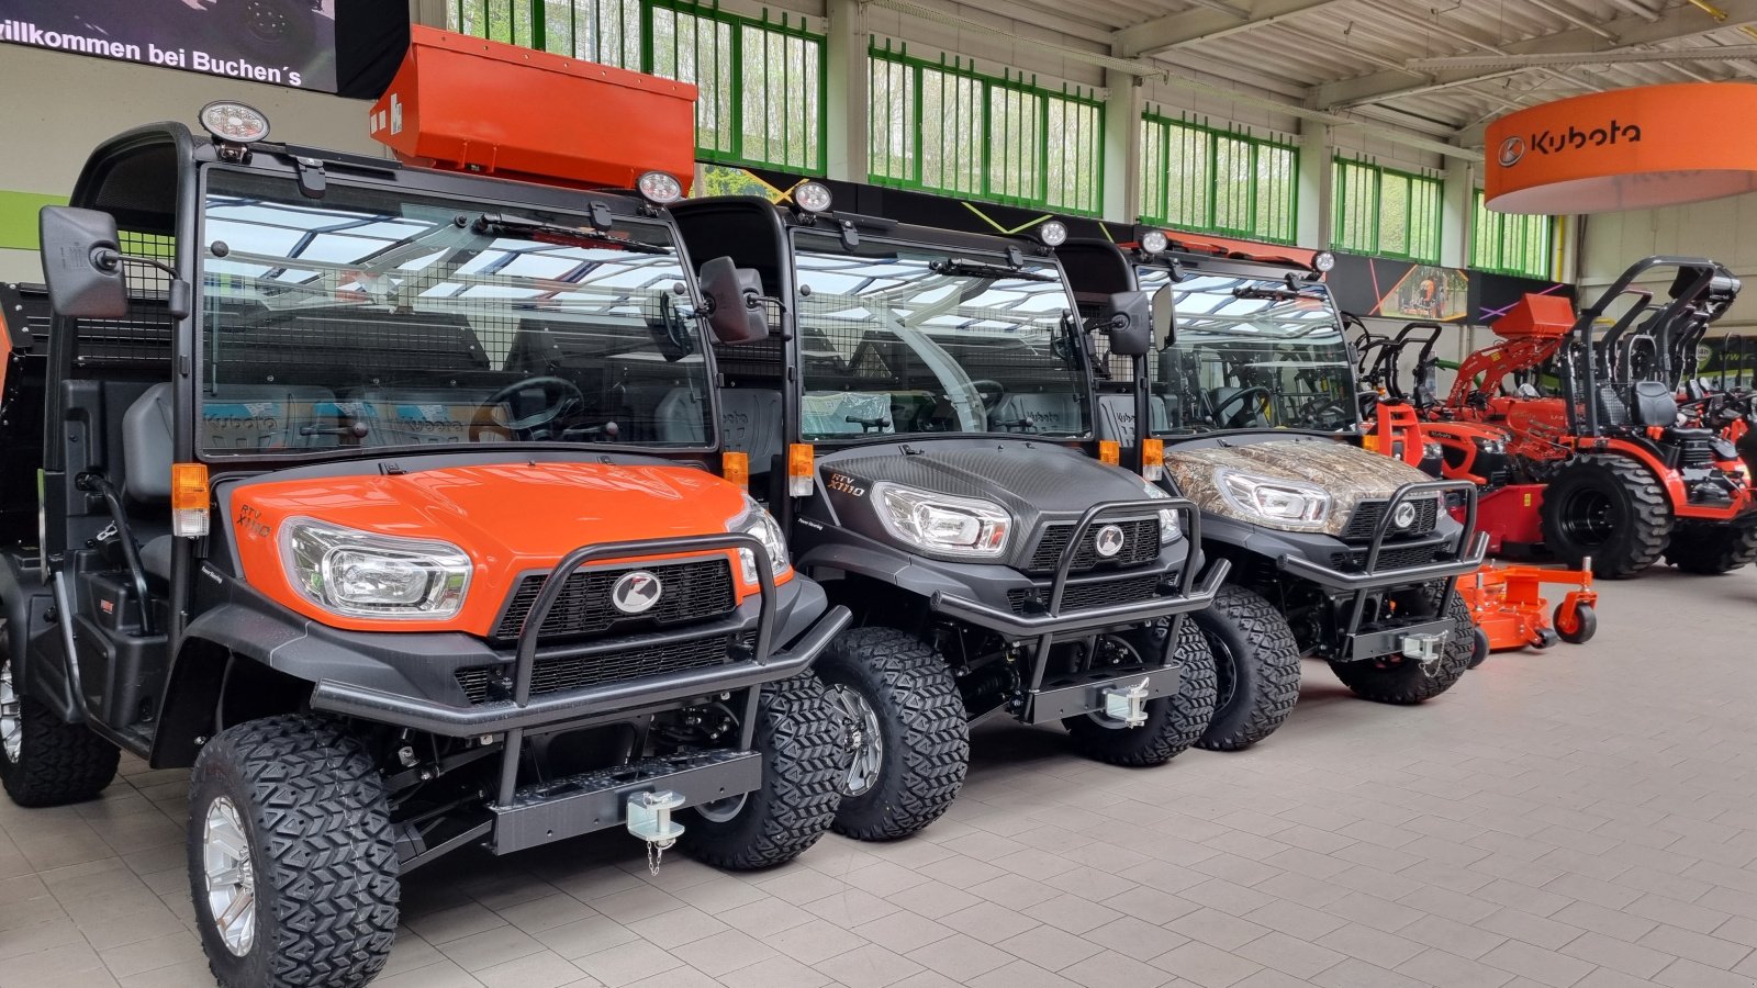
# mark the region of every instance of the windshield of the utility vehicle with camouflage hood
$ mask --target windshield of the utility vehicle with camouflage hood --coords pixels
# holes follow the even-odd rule
[[[1323,285],[1140,267],[1170,290],[1177,343],[1147,360],[1156,432],[1358,425],[1342,323]]]

